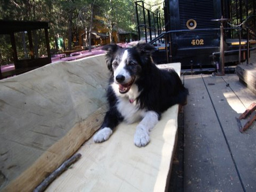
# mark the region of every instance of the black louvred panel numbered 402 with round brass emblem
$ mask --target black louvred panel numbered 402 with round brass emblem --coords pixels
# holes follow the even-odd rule
[[[219,51],[221,0],[170,0],[165,6],[169,18],[166,31],[171,35],[172,61],[183,68],[213,64],[212,53]],[[177,31],[177,32],[175,32]]]

